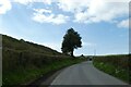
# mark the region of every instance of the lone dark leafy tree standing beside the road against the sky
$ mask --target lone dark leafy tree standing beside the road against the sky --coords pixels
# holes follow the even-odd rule
[[[63,37],[62,41],[62,52],[73,57],[74,49],[82,47],[82,37],[73,28],[68,29],[67,34]]]

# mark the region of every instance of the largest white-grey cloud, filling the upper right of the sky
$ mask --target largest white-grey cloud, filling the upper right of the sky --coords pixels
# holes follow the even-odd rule
[[[117,17],[128,15],[129,4],[122,2],[105,2],[92,0],[84,12],[74,14],[74,22],[79,23],[99,23],[114,22]]]

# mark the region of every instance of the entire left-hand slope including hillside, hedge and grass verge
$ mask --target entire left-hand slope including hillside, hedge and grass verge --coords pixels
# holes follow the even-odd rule
[[[2,35],[2,84],[28,84],[49,72],[82,62],[48,47]]]

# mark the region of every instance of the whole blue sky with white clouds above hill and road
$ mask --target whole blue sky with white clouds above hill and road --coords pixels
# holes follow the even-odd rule
[[[75,55],[129,53],[130,0],[0,0],[0,34],[61,52],[69,28],[82,37]]]

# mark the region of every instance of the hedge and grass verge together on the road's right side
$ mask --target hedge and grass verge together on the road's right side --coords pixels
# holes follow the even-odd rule
[[[112,76],[116,76],[127,83],[131,83],[131,64],[128,54],[95,57],[94,65]]]

